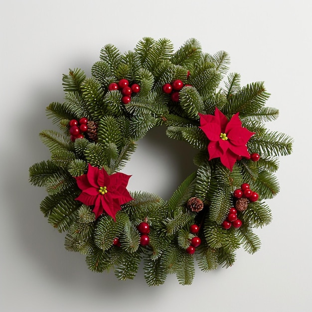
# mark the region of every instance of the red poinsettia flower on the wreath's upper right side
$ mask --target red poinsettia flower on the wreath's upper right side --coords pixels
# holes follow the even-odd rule
[[[255,134],[242,127],[242,122],[236,113],[230,121],[216,107],[214,115],[202,115],[200,117],[200,129],[208,140],[209,160],[220,157],[221,163],[231,171],[239,157],[250,158],[247,150],[247,142]]]

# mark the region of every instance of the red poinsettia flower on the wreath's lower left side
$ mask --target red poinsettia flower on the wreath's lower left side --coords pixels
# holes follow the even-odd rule
[[[78,187],[82,190],[76,200],[83,204],[93,206],[95,218],[104,211],[116,221],[116,213],[121,210],[121,205],[133,198],[126,186],[131,175],[114,173],[108,175],[104,168],[99,169],[88,163],[88,172],[76,176]]]

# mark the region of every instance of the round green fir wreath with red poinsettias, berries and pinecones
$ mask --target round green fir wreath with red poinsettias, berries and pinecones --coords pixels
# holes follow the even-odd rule
[[[148,285],[168,274],[189,285],[195,260],[206,272],[232,266],[240,247],[260,248],[253,229],[271,221],[265,200],[279,192],[274,173],[293,139],[267,130],[279,111],[265,106],[263,82],[241,87],[228,66],[226,52],[204,53],[196,39],[174,52],[170,40],[145,37],[125,53],[105,45],[92,77],[63,75],[64,102],[46,108],[60,132],[40,133],[51,158],[29,168],[29,181],[45,187],[40,210],[90,270],[133,279],[143,261]],[[121,172],[161,125],[198,151],[197,170],[169,200],[129,191]]]

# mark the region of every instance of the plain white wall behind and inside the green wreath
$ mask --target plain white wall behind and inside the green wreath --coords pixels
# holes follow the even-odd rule
[[[1,311],[312,311],[310,0],[0,3]],[[197,270],[191,286],[169,276],[148,287],[141,270],[127,282],[89,271],[39,211],[45,191],[28,183],[29,166],[50,157],[38,133],[53,127],[45,107],[62,102],[62,74],[78,67],[90,75],[105,44],[124,52],[144,36],[167,37],[175,49],[194,37],[205,52],[227,51],[242,85],[265,81],[267,106],[280,109],[269,129],[295,139],[281,158],[281,191],[268,202],[273,222],[257,230],[260,251],[240,250],[229,269]],[[168,197],[191,154],[151,133],[125,169],[130,189]]]

